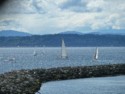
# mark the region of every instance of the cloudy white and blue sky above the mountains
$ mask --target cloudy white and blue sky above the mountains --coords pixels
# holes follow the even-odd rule
[[[31,34],[125,29],[125,0],[9,0],[0,30]]]

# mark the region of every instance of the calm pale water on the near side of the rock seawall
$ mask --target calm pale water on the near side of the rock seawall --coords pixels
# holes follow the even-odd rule
[[[39,92],[41,94],[125,94],[125,76],[48,82],[42,85]]]

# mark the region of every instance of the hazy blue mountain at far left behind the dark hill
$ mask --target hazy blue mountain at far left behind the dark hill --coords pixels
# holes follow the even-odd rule
[[[2,30],[0,31],[0,37],[9,37],[9,36],[31,36],[29,33],[25,32],[19,32],[19,31],[14,31],[14,30]]]

